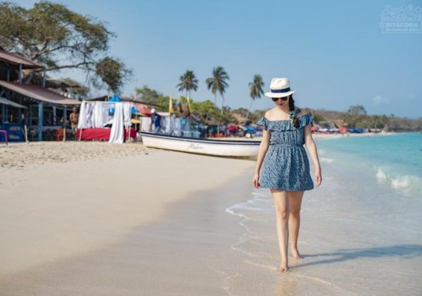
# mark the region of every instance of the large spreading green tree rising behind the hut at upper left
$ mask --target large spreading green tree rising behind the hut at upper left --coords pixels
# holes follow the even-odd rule
[[[132,72],[107,56],[114,36],[101,21],[70,11],[63,4],[40,1],[26,9],[11,2],[0,3],[2,49],[41,63],[46,71],[82,70],[94,86],[101,85],[98,80],[102,80],[110,90],[120,88]],[[27,75],[28,80],[37,71]]]

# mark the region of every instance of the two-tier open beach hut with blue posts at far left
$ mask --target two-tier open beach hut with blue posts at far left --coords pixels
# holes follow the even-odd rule
[[[41,85],[24,84],[23,70],[41,70]],[[29,58],[0,50],[0,97],[20,106],[1,104],[2,129],[9,130],[10,133],[11,130],[22,131],[26,126],[30,140],[41,141],[52,130],[65,127],[68,111],[80,102],[64,97],[45,86],[46,75],[43,66]],[[13,138],[13,133],[9,136]],[[23,140],[23,137],[16,137],[16,140]]]

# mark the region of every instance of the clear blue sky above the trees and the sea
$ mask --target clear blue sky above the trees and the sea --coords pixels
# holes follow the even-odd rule
[[[290,78],[298,106],[345,111],[362,104],[369,114],[422,116],[422,34],[380,28],[386,5],[422,8],[421,0],[57,2],[115,32],[110,53],[134,70],[126,96],[143,85],[177,96],[179,77],[190,69],[199,80],[193,99],[213,99],[205,79],[223,66],[232,108],[248,107],[248,82],[260,74],[265,90],[273,77]],[[252,109],[271,106],[262,97]]]

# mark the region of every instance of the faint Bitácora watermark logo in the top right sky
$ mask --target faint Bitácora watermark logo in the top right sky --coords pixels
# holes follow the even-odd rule
[[[422,8],[387,5],[381,13],[380,27],[383,33],[422,33]]]

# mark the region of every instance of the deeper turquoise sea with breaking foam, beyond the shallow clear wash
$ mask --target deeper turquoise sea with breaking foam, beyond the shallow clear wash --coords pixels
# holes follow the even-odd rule
[[[402,133],[316,141],[321,163],[361,166],[362,174],[408,196],[421,196],[422,134]]]

